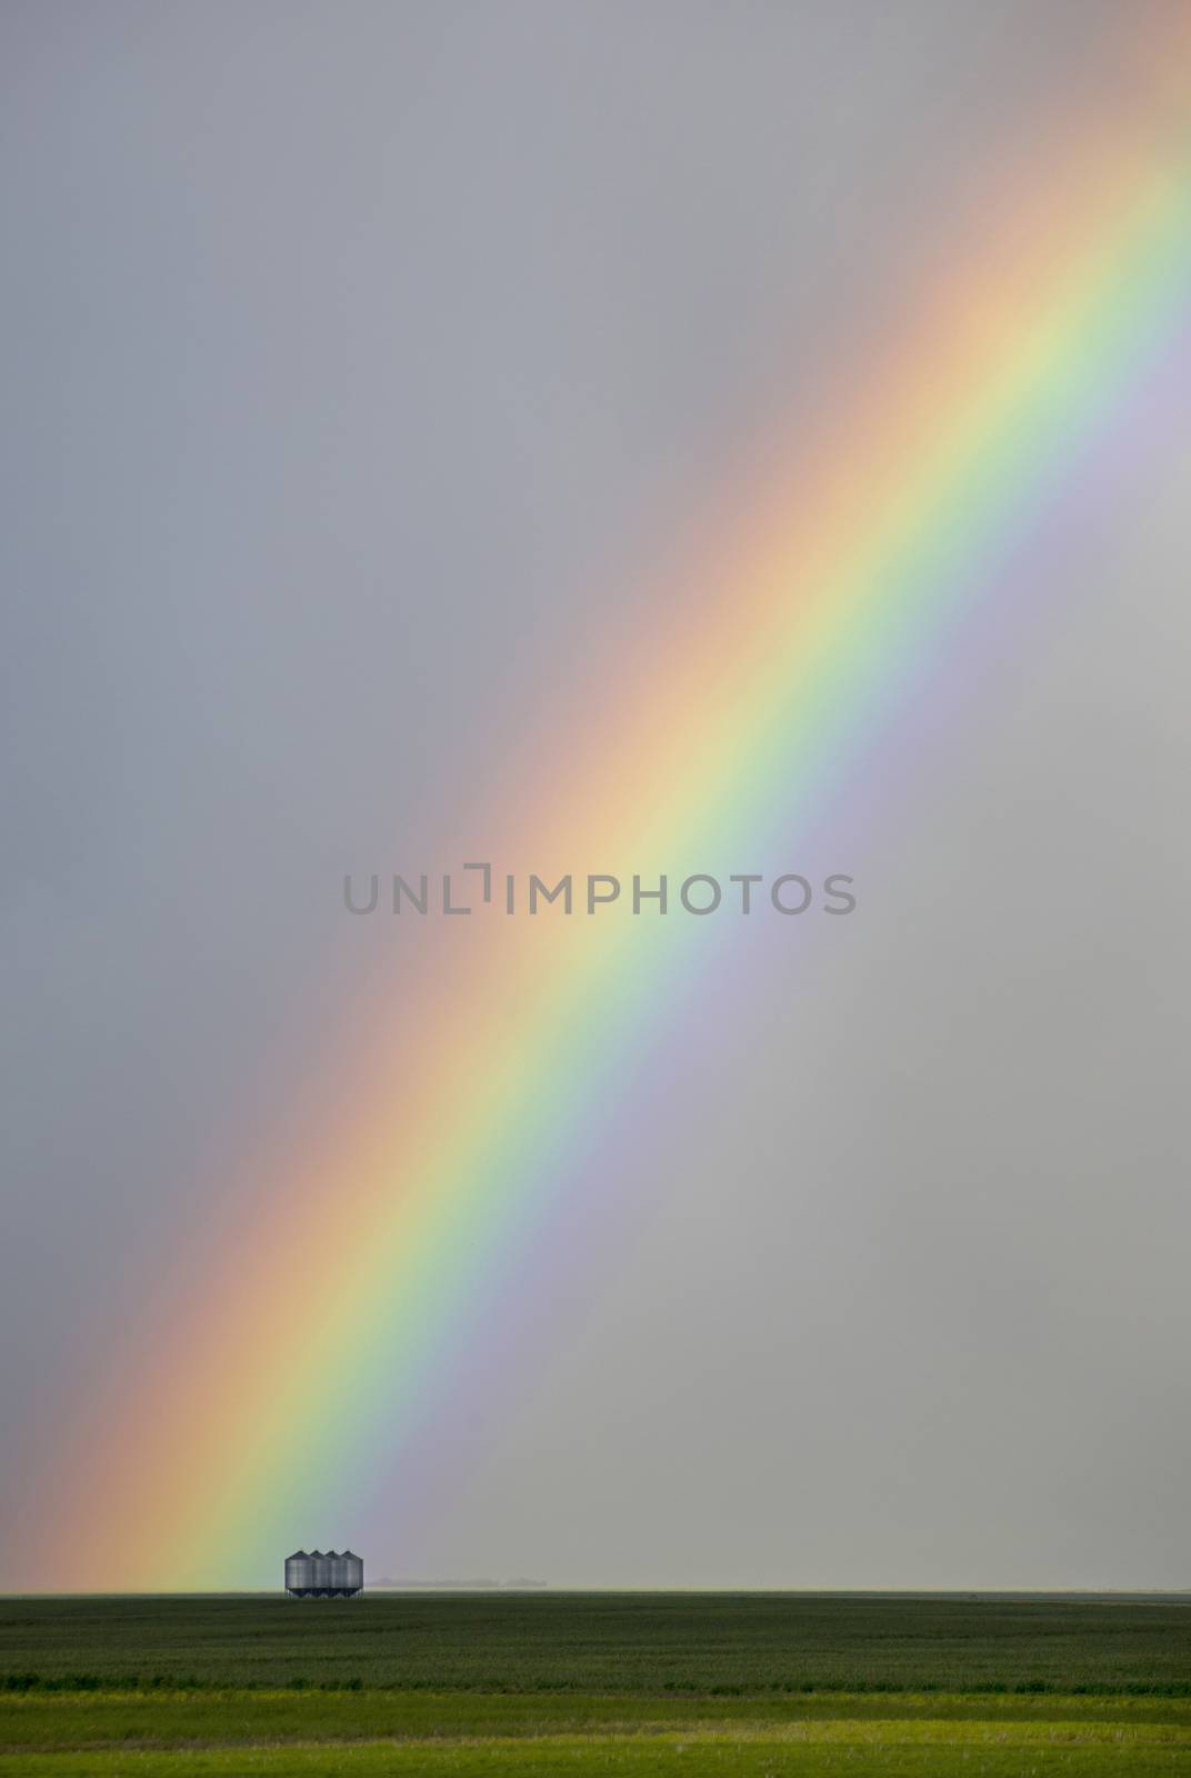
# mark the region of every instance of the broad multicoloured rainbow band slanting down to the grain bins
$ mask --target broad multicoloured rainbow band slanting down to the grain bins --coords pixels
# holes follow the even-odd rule
[[[1004,169],[882,361],[775,443],[659,601],[672,619],[631,638],[599,745],[523,777],[498,868],[796,868],[782,836],[830,805],[1187,320],[1191,180],[1164,57],[1134,69],[1120,116],[1056,121],[1031,146],[1042,176]],[[313,1152],[254,1177],[130,1382],[114,1364],[91,1380],[55,1465],[68,1481],[30,1511],[37,1584],[274,1584],[281,1552],[341,1526],[347,1474],[400,1460],[476,1301],[729,942],[713,925],[471,921],[453,949],[420,928],[400,1017],[386,992],[354,1015],[363,1060]],[[350,1285],[302,1287],[320,1275]],[[311,1446],[320,1392],[336,1431]]]

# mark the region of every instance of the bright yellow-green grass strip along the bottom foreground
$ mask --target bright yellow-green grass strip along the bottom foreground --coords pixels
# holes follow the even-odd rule
[[[1187,1773],[1191,1702],[816,1694],[28,1693],[0,1774]]]

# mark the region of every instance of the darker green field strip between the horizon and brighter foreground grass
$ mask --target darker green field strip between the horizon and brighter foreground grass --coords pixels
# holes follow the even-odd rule
[[[1191,1598],[373,1593],[0,1600],[0,1675],[196,1687],[1182,1687]]]

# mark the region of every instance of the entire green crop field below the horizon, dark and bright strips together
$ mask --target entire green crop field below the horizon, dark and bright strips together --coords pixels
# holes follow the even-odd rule
[[[0,1778],[1191,1778],[1191,1598],[0,1600]]]

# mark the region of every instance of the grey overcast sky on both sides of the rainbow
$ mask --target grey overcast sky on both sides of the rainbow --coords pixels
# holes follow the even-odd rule
[[[0,1584],[391,965],[341,873],[498,852],[651,567],[1173,14],[9,0]],[[1184,340],[859,765],[857,916],[690,983],[373,1572],[1191,1584],[1187,416]]]

